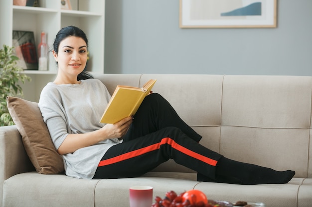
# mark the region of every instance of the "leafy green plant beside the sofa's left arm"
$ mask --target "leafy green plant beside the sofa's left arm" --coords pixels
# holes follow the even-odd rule
[[[30,77],[22,73],[18,67],[18,58],[13,54],[13,47],[3,45],[0,49],[0,126],[14,125],[6,106],[7,96],[23,95],[19,83],[30,81]]]

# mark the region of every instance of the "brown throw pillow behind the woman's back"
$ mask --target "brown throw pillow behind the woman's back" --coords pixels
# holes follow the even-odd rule
[[[36,171],[40,174],[64,172],[63,159],[53,145],[38,103],[16,97],[7,97],[6,102]]]

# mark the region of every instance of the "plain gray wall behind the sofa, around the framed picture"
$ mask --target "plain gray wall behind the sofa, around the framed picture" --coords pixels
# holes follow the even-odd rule
[[[277,28],[179,28],[179,0],[106,0],[105,73],[312,75],[312,0]]]

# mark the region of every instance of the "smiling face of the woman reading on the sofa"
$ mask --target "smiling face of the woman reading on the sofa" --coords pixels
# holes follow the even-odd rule
[[[58,72],[76,77],[86,67],[87,44],[81,37],[69,36],[60,42],[58,53],[53,51],[53,56],[58,63]]]

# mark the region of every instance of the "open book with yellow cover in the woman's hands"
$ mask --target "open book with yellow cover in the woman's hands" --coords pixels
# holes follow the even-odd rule
[[[156,80],[149,80],[142,88],[117,85],[111,100],[103,113],[101,123],[115,124],[135,115],[143,99],[150,93]]]

